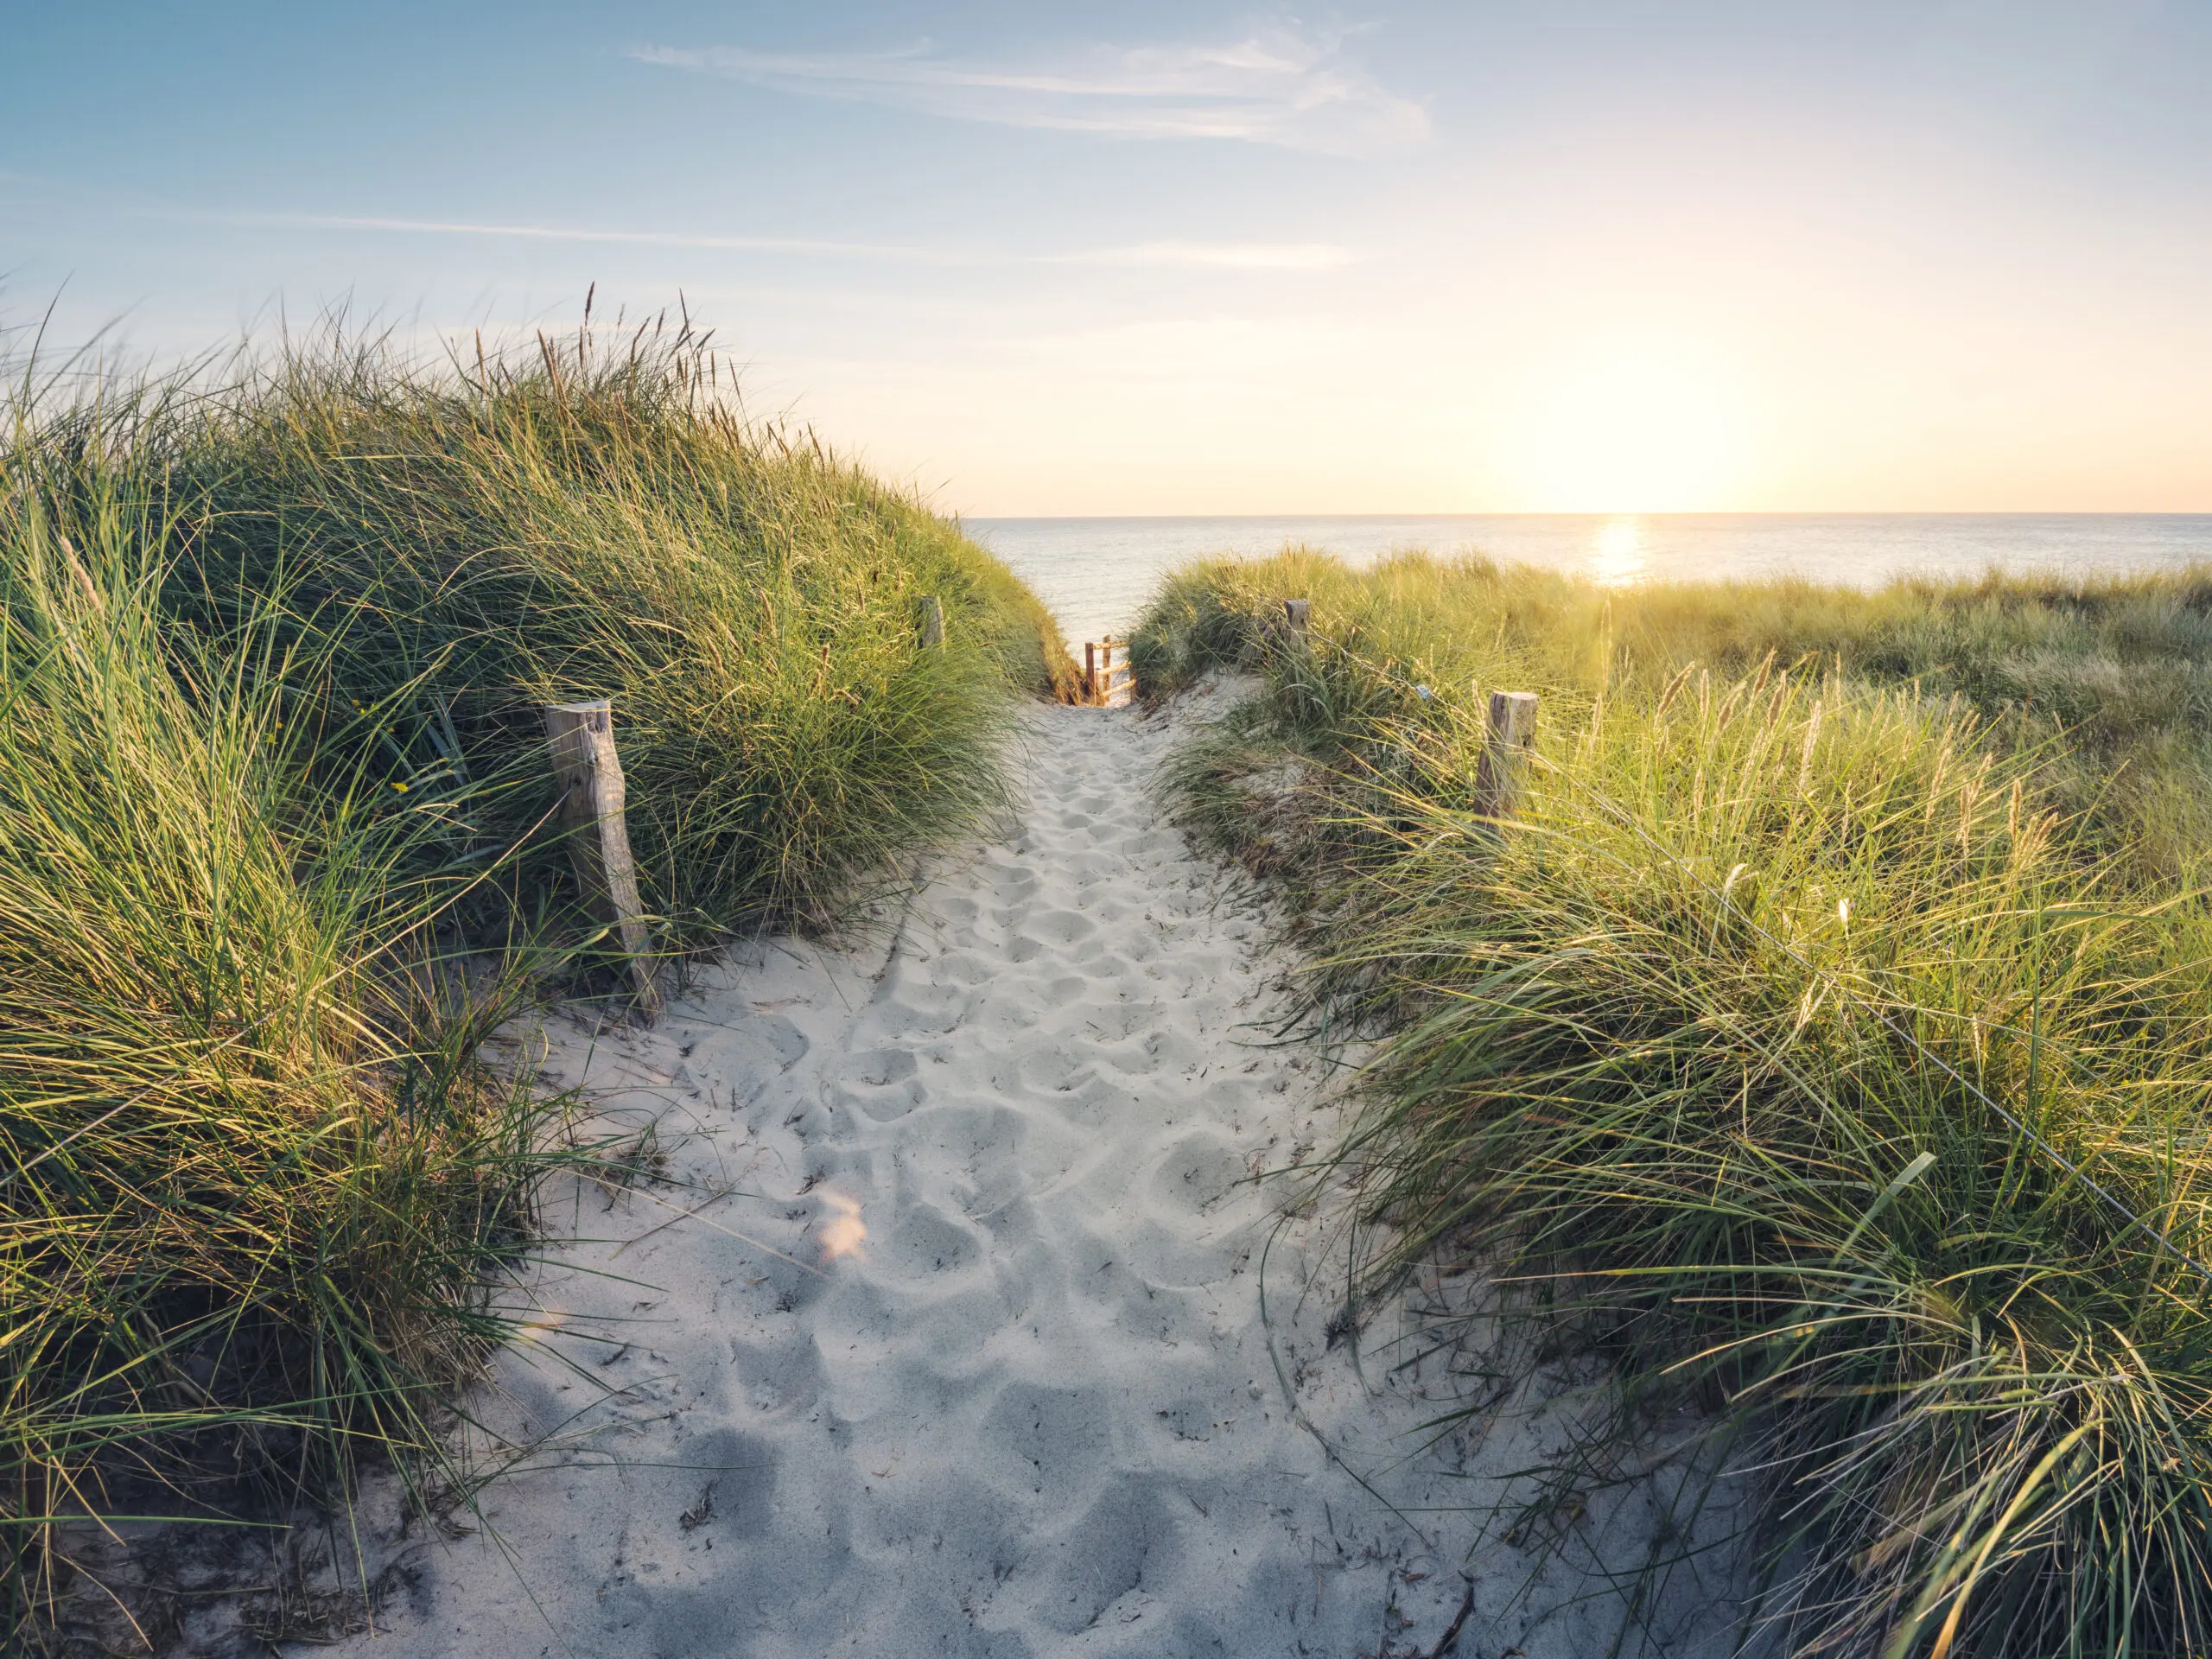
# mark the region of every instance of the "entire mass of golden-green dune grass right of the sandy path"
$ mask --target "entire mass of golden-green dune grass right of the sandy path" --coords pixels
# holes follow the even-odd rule
[[[1265,675],[1177,787],[1383,1033],[1329,1161],[1360,1294],[1473,1267],[1613,1358],[1624,1440],[1703,1411],[1783,1650],[2212,1641],[2203,606],[1298,555],[1137,635],[1152,686]],[[1546,699],[1504,825],[1493,688]]]

